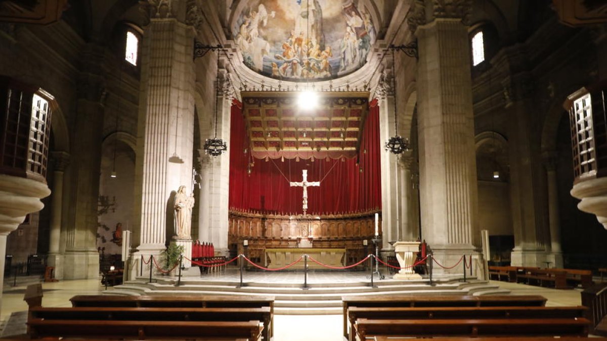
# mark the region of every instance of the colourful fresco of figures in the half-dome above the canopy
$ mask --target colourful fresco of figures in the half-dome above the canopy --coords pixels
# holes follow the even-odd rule
[[[290,81],[354,72],[376,39],[367,8],[351,0],[252,0],[232,34],[246,66]]]

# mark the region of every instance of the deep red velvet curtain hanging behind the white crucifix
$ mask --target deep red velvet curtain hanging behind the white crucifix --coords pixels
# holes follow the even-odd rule
[[[302,214],[302,187],[290,181],[321,181],[308,187],[309,214],[343,214],[381,209],[379,107],[371,107],[356,158],[322,160],[258,160],[251,158],[239,103],[232,106],[229,143],[229,208],[266,214]],[[357,162],[358,161],[358,162]],[[251,174],[248,164],[254,162]],[[362,169],[362,172],[361,172]]]

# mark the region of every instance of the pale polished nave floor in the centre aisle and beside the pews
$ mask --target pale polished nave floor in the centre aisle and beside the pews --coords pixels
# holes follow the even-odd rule
[[[320,277],[326,277],[328,273]],[[293,279],[297,274],[293,274]],[[274,276],[277,278],[277,276]],[[319,277],[319,278],[320,278]],[[548,299],[548,306],[572,306],[581,304],[581,289],[557,290],[540,288],[517,283],[495,282],[501,288],[509,289],[515,295],[543,295]],[[55,283],[42,283],[44,297],[43,306],[70,306],[69,299],[76,294],[99,294],[104,291],[99,280],[64,280]],[[109,288],[111,290],[111,288]],[[7,287],[2,296],[0,320],[7,320],[12,312],[25,311],[27,305],[23,301],[25,286]],[[274,341],[340,341],[342,316],[288,316],[275,317]]]

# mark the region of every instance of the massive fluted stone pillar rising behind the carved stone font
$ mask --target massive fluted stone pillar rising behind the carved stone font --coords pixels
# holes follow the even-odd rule
[[[476,159],[469,38],[463,23],[472,1],[416,1],[413,6],[409,24],[419,46],[422,230],[436,260],[450,266],[464,253],[480,257],[473,245],[478,233]]]

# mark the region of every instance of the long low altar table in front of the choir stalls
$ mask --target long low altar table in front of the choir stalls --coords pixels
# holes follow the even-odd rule
[[[266,268],[277,269],[287,266],[297,260],[302,255],[307,254],[308,257],[308,269],[329,269],[324,266],[320,266],[310,260],[310,257],[314,258],[320,263],[330,266],[344,266],[346,260],[345,255],[346,249],[325,249],[325,248],[282,248],[282,249],[265,249],[265,258],[263,263]],[[304,269],[304,260],[302,259],[296,265],[291,266],[287,270],[301,270]]]

